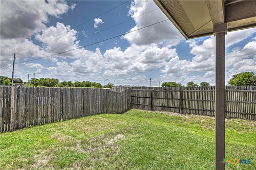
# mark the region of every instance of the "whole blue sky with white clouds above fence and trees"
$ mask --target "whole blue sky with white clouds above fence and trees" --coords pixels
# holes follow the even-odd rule
[[[149,86],[149,78],[153,86],[214,85],[214,36],[186,40],[166,19],[153,1],[1,1],[1,75],[11,77],[15,53],[14,76],[24,81],[35,73],[116,86]],[[256,72],[256,28],[226,35],[226,84],[247,71]]]

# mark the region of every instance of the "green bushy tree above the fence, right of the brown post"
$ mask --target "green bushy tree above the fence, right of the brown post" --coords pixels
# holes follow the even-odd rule
[[[256,86],[256,75],[253,72],[238,73],[228,83],[231,86]]]

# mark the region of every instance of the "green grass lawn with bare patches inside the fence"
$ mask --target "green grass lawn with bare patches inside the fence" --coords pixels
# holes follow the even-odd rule
[[[0,134],[0,169],[214,169],[214,118],[131,109]],[[226,122],[226,169],[256,169],[256,122]]]

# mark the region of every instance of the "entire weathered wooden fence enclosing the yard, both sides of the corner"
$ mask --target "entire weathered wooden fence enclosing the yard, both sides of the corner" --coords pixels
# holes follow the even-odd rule
[[[0,132],[129,108],[215,116],[215,87],[0,87]],[[256,87],[226,87],[226,117],[256,120]]]

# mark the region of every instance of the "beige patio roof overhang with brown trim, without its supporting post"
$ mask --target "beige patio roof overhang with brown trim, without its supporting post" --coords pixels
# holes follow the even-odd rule
[[[154,0],[186,39],[213,35],[213,25],[227,23],[227,31],[256,26],[256,1]]]

